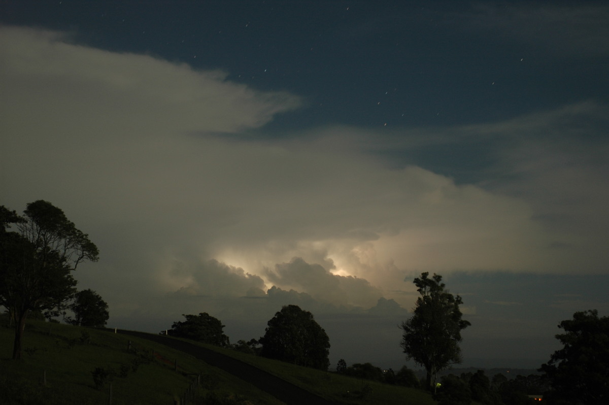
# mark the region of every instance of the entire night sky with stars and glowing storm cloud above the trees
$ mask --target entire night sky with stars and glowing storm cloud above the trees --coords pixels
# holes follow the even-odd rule
[[[62,208],[108,326],[311,311],[406,364],[412,280],[463,365],[539,367],[609,314],[609,4],[1,1],[0,204]],[[409,365],[412,365],[409,363]]]

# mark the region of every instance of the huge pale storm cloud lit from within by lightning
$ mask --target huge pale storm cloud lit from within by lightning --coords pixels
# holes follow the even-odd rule
[[[552,250],[587,239],[583,231],[570,230],[574,238],[554,233],[536,217],[544,200],[533,191],[557,180],[551,171],[533,168],[527,181],[501,179],[492,187],[459,183],[417,164],[387,164],[382,153],[368,153],[377,133],[349,127],[274,141],[209,136],[262,131],[274,114],[298,108],[300,98],[252,90],[222,72],[94,49],[58,33],[4,27],[2,34],[5,204],[21,210],[43,198],[65,210],[100,247],[100,262],[78,276],[107,291],[104,297],[124,300],[126,286],[138,283],[143,295],[183,288],[184,299],[255,300],[294,291],[333,305],[374,306],[382,296],[410,308],[412,296],[401,294],[413,290],[405,274],[565,272],[577,261],[572,252],[586,252]],[[555,119],[425,131],[441,143],[455,130],[505,137],[532,120],[560,130]],[[416,132],[405,129],[403,138]],[[353,134],[362,147],[353,147]],[[495,159],[522,170],[530,159],[510,156],[522,151]],[[559,154],[550,155],[554,163],[546,167],[558,167],[551,158]],[[558,193],[560,183],[551,189]],[[590,206],[599,210],[599,201]],[[594,245],[586,256],[590,268],[599,252]],[[103,269],[103,280],[94,269]]]

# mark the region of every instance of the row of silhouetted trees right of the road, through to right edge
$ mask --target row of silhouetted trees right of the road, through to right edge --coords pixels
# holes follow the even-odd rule
[[[347,366],[344,359],[336,372],[370,381],[428,390],[440,405],[466,405],[472,401],[486,405],[520,405],[535,403],[534,395],[543,395],[546,403],[557,405],[605,404],[609,389],[609,317],[598,317],[597,311],[576,312],[573,320],[558,325],[564,334],[556,337],[564,348],[538,370],[540,375],[507,379],[497,374],[489,379],[483,370],[446,375],[438,373],[462,361],[460,331],[470,326],[462,320],[459,305],[442,283],[442,276],[422,273],[415,278],[420,297],[412,317],[402,323],[401,347],[407,359],[414,359],[425,370],[420,381],[406,366],[398,372],[382,370],[370,363]],[[293,364],[327,370],[329,339],[315,322],[311,312],[296,305],[284,306],[267,323],[260,339],[239,340],[231,345],[222,331],[224,325],[203,312],[183,315],[184,322],[174,322],[168,334],[186,337],[245,353],[270,357]],[[164,332],[163,332],[164,333]],[[539,397],[538,397],[539,398]]]

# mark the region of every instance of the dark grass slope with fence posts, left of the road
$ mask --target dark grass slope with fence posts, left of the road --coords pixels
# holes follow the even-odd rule
[[[111,404],[172,405],[197,375],[196,403],[280,404],[203,361],[136,337],[32,321],[26,325],[20,361],[10,359],[13,337],[13,329],[0,320],[3,405],[108,404],[110,384]],[[97,381],[92,373],[96,369]]]

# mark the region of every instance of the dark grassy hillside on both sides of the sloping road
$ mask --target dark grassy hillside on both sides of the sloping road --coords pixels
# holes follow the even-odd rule
[[[12,361],[13,336],[6,319],[0,319],[2,404],[171,405],[181,400],[191,386],[191,396],[197,397],[194,403],[203,403],[205,398],[205,404],[280,404],[273,396],[231,374],[146,339],[33,320],[26,326],[23,359]],[[373,405],[435,403],[420,390],[202,346],[252,364],[328,400]],[[197,387],[194,381],[199,381]]]

